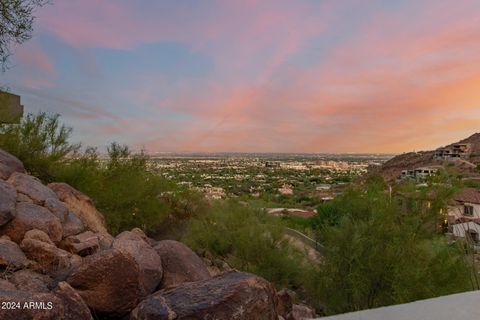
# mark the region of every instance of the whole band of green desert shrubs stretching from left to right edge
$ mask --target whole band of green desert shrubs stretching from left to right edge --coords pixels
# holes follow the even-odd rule
[[[172,228],[187,224],[179,236],[200,255],[293,289],[326,314],[478,287],[468,246],[449,244],[438,227],[439,209],[459,177],[432,177],[438,181],[418,195],[430,201],[427,208],[420,202],[401,206],[373,176],[320,205],[313,218],[282,219],[237,200],[207,203],[149,170],[144,152],[112,143],[101,156],[71,143],[71,132],[57,115],[30,114],[19,125],[0,127],[0,148],[44,182],[66,182],[91,197],[113,234],[140,227],[155,235],[167,221]],[[408,183],[396,188],[415,189]],[[292,246],[286,226],[315,236],[325,248],[321,259]]]

